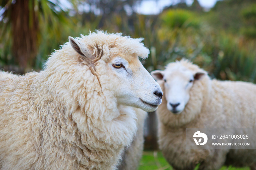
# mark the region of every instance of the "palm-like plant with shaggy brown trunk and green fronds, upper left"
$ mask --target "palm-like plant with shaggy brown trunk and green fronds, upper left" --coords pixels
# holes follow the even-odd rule
[[[68,2],[74,3],[72,0]],[[41,37],[39,24],[47,24],[49,30],[58,35],[61,33],[56,22],[68,23],[69,19],[64,17],[67,10],[58,0],[3,0],[0,10],[0,42],[4,47],[12,44],[11,53],[21,68],[20,72],[34,65]],[[0,58],[8,60],[7,56]]]

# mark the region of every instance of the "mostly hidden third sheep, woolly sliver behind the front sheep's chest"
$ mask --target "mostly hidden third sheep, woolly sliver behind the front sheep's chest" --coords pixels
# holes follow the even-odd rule
[[[129,146],[122,155],[122,161],[118,165],[118,170],[136,170],[138,169],[140,159],[143,153],[144,144],[144,121],[147,113],[142,109],[135,108],[136,115],[138,117],[137,127],[138,130],[132,140],[131,146]]]

